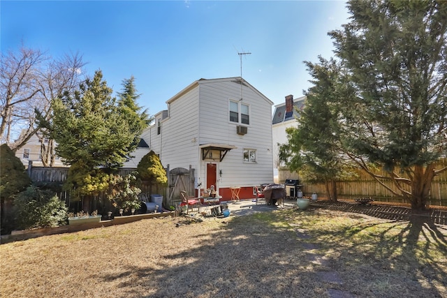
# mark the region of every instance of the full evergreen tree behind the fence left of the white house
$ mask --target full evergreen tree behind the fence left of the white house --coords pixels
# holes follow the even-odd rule
[[[71,165],[65,188],[92,195],[108,187],[108,173],[131,154],[137,131],[131,129],[101,71],[74,94],[54,100],[52,138],[64,163]]]

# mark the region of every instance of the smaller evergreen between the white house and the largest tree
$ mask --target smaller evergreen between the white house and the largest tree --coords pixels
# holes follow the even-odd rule
[[[279,148],[281,161],[311,183],[323,182],[330,200],[337,200],[337,179],[349,174],[346,156],[340,147],[338,105],[349,83],[343,81],[342,68],[334,59],[318,57],[319,64],[306,62],[314,80],[309,88],[298,126],[288,128],[288,143]]]

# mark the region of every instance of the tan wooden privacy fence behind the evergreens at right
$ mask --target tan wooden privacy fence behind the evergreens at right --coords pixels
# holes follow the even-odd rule
[[[441,169],[447,166],[447,158],[442,158],[437,164],[436,169]],[[378,172],[379,174],[385,174],[384,172]],[[409,202],[404,201],[402,197],[397,197],[392,192],[388,191],[384,186],[377,182],[374,178],[369,176],[364,171],[357,172],[358,177],[353,179],[345,179],[337,181],[337,195],[339,199],[355,199],[362,197],[371,197],[374,200],[382,202],[399,202],[409,204]],[[397,191],[397,187],[393,184],[393,181],[382,180],[386,186]],[[302,182],[304,184],[305,195],[310,195],[314,192],[318,194],[318,197],[328,197],[326,193],[325,184],[307,184],[306,181]],[[406,186],[407,190],[409,186]],[[447,206],[447,171],[434,177],[432,181],[432,189],[430,191],[430,198],[427,202],[430,205],[440,205]]]

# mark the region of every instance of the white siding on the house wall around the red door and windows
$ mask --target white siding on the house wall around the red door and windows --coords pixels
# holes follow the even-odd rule
[[[237,147],[228,151],[218,163],[219,188],[251,186],[273,182],[272,160],[272,105],[254,90],[244,87],[244,100],[238,98],[240,84],[215,82],[200,84],[200,144],[219,143]],[[230,98],[230,100],[228,100]],[[229,102],[238,102],[249,108],[250,126],[246,135],[237,135],[238,123],[228,121]],[[239,110],[239,112],[242,112]],[[244,163],[244,148],[256,150],[256,163]],[[206,165],[201,163],[200,180],[204,180]],[[219,175],[218,175],[219,176]]]

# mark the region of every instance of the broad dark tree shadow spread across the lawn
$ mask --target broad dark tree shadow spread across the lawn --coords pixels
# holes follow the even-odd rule
[[[233,217],[224,228],[210,231],[211,238],[208,232],[197,234],[196,248],[162,254],[154,264],[143,261],[101,272],[97,278],[105,288],[117,284],[117,297],[330,297],[331,289],[359,297],[446,297],[444,227],[425,217],[386,217],[334,233],[302,224],[316,211]],[[297,227],[310,237],[298,237]],[[444,262],[438,264],[442,255]],[[309,256],[325,262],[312,262]],[[342,282],[318,279],[321,272],[336,272]]]

